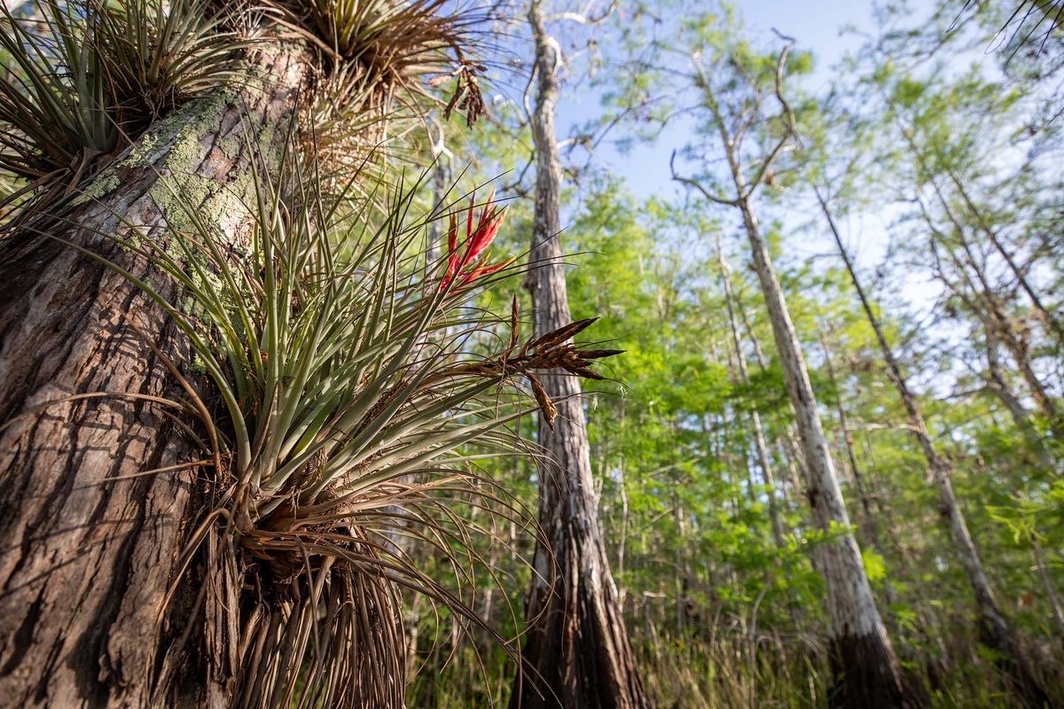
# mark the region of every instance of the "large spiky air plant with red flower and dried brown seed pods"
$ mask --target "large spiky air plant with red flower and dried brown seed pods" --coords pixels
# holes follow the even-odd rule
[[[177,281],[180,303],[109,265],[169,313],[223,403],[222,416],[199,409],[218,506],[185,562],[200,559],[216,575],[210,588],[242,598],[219,601],[236,614],[229,627],[238,637],[227,642],[238,648],[238,706],[398,707],[402,593],[491,629],[396,538],[471,583],[477,528],[462,510],[531,524],[478,471],[487,457],[531,450],[514,433],[530,409],[552,420],[536,373],[597,377],[593,361],[616,351],[571,342],[593,320],[523,340],[516,301],[498,321],[461,307],[469,288],[511,263],[485,266],[504,216],[497,204],[476,222],[466,210],[462,249],[452,216],[450,253],[427,271],[418,244],[429,218],[410,217],[415,189],[375,216],[372,198],[325,198],[313,165],[290,158],[281,172],[275,183],[255,173],[245,248],[227,243],[180,195],[193,226],[168,250],[132,227],[111,237]],[[509,325],[505,347],[460,352],[493,322]]]

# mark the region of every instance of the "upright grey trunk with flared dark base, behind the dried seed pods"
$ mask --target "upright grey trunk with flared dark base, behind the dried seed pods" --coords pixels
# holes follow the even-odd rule
[[[530,5],[528,19],[538,84],[532,116],[536,187],[529,261],[533,268],[526,286],[532,294],[535,334],[541,336],[568,324],[570,316],[559,240],[562,168],[554,108],[560,57],[544,28],[538,0]],[[539,421],[539,443],[546,451],[539,468],[539,524],[550,546],[536,547],[536,573],[526,610],[526,668],[511,706],[642,709],[648,702],[596,519],[580,384],[575,376],[552,372],[544,376],[544,387],[558,406],[553,427]]]

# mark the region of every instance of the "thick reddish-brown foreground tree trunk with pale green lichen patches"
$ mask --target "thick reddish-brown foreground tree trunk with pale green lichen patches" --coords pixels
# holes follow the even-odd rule
[[[179,367],[188,349],[122,275],[61,241],[176,302],[176,284],[100,235],[135,229],[166,248],[185,216],[171,197],[180,191],[238,241],[240,200],[253,199],[246,137],[264,140],[255,154],[280,148],[305,72],[298,53],[264,43],[257,54],[263,82],[185,105],[87,186],[98,201],[0,242],[4,706],[231,703],[235,649],[225,628],[189,623],[202,595],[179,563],[212,461],[180,409],[149,399],[182,395],[152,348]]]

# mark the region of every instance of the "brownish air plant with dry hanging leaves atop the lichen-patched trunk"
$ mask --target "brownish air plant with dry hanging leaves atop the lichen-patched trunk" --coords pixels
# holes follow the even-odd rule
[[[281,22],[319,48],[321,73],[302,117],[313,126],[319,159],[361,166],[390,126],[421,119],[433,105],[464,111],[472,125],[484,113],[477,81],[484,67],[466,57],[481,18],[451,13],[446,0],[266,0]],[[437,96],[453,84],[450,101]],[[444,90],[444,89],[440,89]],[[330,166],[331,167],[331,166]]]

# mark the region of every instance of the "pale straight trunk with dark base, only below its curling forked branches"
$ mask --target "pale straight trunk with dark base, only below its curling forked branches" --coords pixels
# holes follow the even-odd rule
[[[741,195],[738,206],[805,458],[805,494],[817,529],[829,535],[817,544],[815,561],[828,591],[831,623],[828,642],[833,685],[830,706],[838,709],[921,706],[919,697],[902,682],[898,659],[876,607],[861,550],[850,531],[849,516],[816,409],[801,345],[737,169],[737,165],[733,165],[733,178]]]

